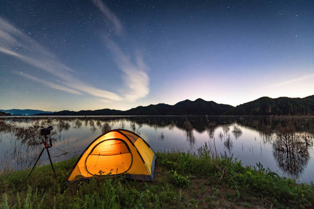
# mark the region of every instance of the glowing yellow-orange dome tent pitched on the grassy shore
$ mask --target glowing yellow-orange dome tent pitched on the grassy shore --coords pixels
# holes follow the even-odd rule
[[[154,151],[139,135],[123,129],[111,130],[89,144],[68,181],[107,174],[152,181],[155,159]]]

